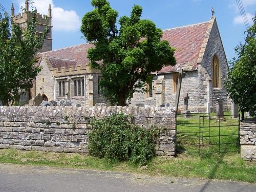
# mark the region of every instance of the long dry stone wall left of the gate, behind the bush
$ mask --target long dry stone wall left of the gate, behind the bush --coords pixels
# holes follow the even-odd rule
[[[92,117],[111,114],[134,116],[136,124],[162,127],[156,141],[157,155],[175,155],[175,111],[137,106],[0,106],[0,148],[48,152],[88,153]]]

